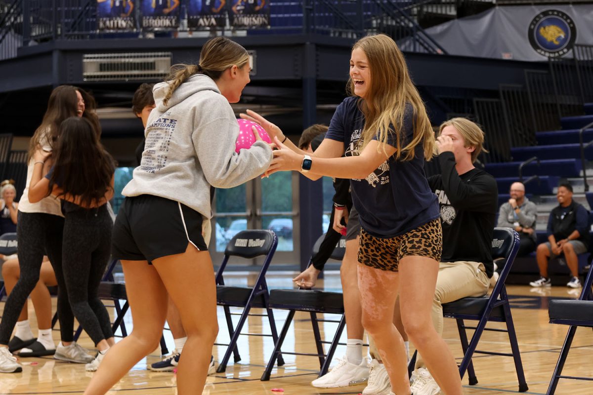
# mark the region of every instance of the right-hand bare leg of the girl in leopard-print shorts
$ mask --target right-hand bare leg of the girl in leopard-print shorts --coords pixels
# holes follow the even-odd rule
[[[438,271],[439,262],[432,258],[405,256],[400,260],[401,318],[410,341],[422,355],[441,390],[446,395],[461,395],[463,392],[457,364],[431,319]],[[391,382],[393,385],[393,380]]]

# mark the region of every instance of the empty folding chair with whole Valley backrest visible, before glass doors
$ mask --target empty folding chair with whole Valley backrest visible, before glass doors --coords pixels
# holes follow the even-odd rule
[[[234,361],[241,361],[241,356],[237,349],[237,339],[239,335],[248,336],[272,336],[274,343],[278,341],[278,332],[272,309],[269,307],[270,293],[267,288],[266,272],[272,262],[272,257],[278,246],[278,237],[271,230],[243,230],[235,235],[228,242],[224,252],[224,259],[216,272],[216,303],[223,306],[225,318],[227,319],[228,334],[231,341],[228,344],[215,343],[218,346],[228,346],[227,351],[219,361],[217,372],[224,372],[227,369],[228,360],[231,353],[234,354]],[[224,269],[227,267],[231,256],[238,256],[244,259],[253,259],[256,256],[265,256],[259,275],[253,288],[251,287],[232,287],[224,283]],[[241,313],[231,313],[231,307],[243,307]],[[266,314],[250,314],[253,307],[265,309]],[[236,327],[233,327],[232,316],[240,316]],[[248,316],[267,316],[270,322],[271,335],[262,335],[260,333],[241,333],[243,325]],[[283,365],[282,359],[278,360],[278,365]]]

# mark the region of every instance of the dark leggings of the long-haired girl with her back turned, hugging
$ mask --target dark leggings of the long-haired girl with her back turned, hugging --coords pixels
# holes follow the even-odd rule
[[[109,313],[98,296],[111,255],[113,221],[107,205],[65,213],[63,269],[74,316],[95,345],[113,337]]]

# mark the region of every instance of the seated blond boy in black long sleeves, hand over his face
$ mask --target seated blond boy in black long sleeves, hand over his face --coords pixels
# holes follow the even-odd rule
[[[488,291],[494,265],[490,248],[498,206],[492,175],[474,166],[484,132],[465,118],[443,123],[436,141],[441,174],[428,178],[441,208],[443,249],[432,302],[432,322],[442,335],[442,304]],[[419,356],[412,392],[436,395],[440,388]]]

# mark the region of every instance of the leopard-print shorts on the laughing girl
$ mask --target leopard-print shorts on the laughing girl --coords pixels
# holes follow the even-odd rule
[[[358,262],[375,269],[398,271],[404,256],[426,256],[441,261],[441,220],[435,219],[403,235],[382,239],[361,230],[361,246]]]

